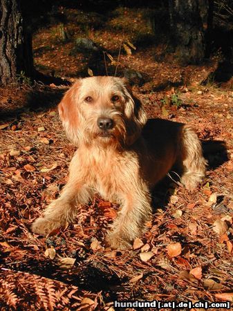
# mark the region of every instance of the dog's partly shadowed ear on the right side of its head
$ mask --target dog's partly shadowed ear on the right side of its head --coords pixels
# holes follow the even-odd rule
[[[142,127],[147,123],[147,115],[142,106],[142,102],[133,95],[131,87],[124,82],[127,89],[127,102],[125,104],[124,114],[127,125],[127,144],[133,144],[142,131]]]

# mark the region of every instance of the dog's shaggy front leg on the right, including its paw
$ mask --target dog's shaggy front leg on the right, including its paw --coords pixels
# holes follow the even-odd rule
[[[128,249],[142,235],[151,218],[151,199],[146,187],[126,195],[112,229],[106,237],[113,249]]]

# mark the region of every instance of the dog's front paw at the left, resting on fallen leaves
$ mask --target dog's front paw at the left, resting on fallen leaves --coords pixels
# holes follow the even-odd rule
[[[32,223],[32,232],[46,236],[59,227],[62,227],[62,224],[57,221],[48,218],[37,218],[35,222]]]

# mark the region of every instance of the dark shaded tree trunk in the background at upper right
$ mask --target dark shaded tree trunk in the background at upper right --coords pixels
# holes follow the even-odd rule
[[[205,57],[205,11],[208,0],[169,0],[172,39],[178,57],[187,64]]]

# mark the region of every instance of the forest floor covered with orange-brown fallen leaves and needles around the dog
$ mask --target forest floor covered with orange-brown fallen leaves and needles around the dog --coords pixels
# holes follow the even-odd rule
[[[143,81],[136,77],[132,84],[148,117],[193,124],[209,164],[195,191],[170,178],[156,187],[147,233],[127,251],[104,246],[118,206],[98,196],[80,208],[73,225],[46,237],[32,234],[30,225],[66,183],[75,147],[56,108],[67,86],[30,85],[22,73],[23,84],[0,90],[1,310],[120,310],[113,301],[137,300],[232,302],[233,82],[208,79],[216,59],[182,66],[161,41],[142,43],[151,30],[139,10],[116,10],[103,25],[99,15],[65,8],[60,14],[64,24],[35,32],[37,69],[64,82],[104,74],[105,68],[114,73],[121,47],[118,75],[125,69],[142,74]],[[84,53],[71,53],[74,38],[84,36],[104,48],[105,64],[103,57],[96,66]],[[169,304],[161,309],[171,310]]]

